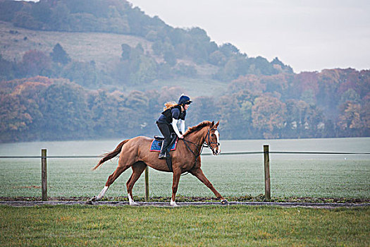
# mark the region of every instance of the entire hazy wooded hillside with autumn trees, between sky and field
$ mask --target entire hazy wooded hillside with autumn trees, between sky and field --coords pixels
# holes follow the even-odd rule
[[[157,134],[164,102],[222,138],[370,135],[370,71],[295,74],[125,0],[0,0],[0,141]]]

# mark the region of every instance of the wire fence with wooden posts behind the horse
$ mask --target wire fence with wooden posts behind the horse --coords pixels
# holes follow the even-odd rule
[[[300,154],[300,155],[370,155],[370,152],[286,152],[286,151],[269,151],[269,145],[264,145],[264,151],[261,152],[227,152],[221,153],[220,155],[264,155],[264,188],[265,198],[271,199],[271,179],[270,179],[270,154]],[[202,156],[211,155],[211,153],[202,154]],[[47,150],[41,150],[41,156],[0,156],[0,159],[7,158],[41,158],[41,178],[42,178],[42,200],[48,200],[47,196],[47,158],[98,158],[98,156],[92,155],[70,155],[70,156],[47,156]],[[145,183],[145,200],[149,201],[149,168],[147,167],[144,171],[144,183]]]

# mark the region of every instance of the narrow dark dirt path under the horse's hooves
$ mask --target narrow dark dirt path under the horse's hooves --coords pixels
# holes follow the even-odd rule
[[[138,202],[142,206],[154,206],[154,207],[170,207],[169,203],[143,203]],[[206,205],[218,205],[225,207],[227,205],[249,205],[249,206],[279,206],[279,207],[314,207],[314,208],[337,208],[337,207],[369,207],[370,203],[269,203],[269,202],[229,202],[227,205],[221,203],[177,203],[178,206],[206,206]],[[12,201],[0,201],[0,205],[10,205],[13,207],[32,207],[39,205],[86,205],[85,201],[24,201],[24,200],[12,200]],[[108,206],[128,206],[128,202],[121,201],[100,201],[94,202],[92,205],[108,205]]]

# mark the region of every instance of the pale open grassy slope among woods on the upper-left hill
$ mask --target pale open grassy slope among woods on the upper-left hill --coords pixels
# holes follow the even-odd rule
[[[61,44],[70,58],[92,61],[97,68],[107,70],[120,61],[121,44],[136,47],[142,44],[147,54],[153,53],[152,44],[142,37],[104,32],[40,31],[15,27],[13,23],[0,22],[1,54],[4,59],[21,61],[23,54],[37,49],[50,54],[56,44]]]

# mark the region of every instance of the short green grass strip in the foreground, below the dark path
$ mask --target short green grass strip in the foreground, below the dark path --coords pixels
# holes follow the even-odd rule
[[[1,246],[369,246],[370,208],[0,207]]]

